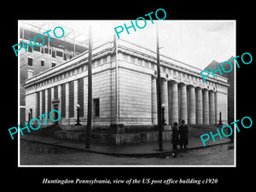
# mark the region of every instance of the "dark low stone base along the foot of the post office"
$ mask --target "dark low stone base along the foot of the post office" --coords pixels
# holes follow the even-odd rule
[[[221,125],[189,125],[189,137],[198,137],[202,134],[217,133],[217,128]],[[67,139],[72,141],[85,142],[86,139],[86,126],[84,125],[72,125],[72,126],[60,126],[60,130],[55,131],[55,137],[61,139]],[[163,141],[172,140],[172,129],[170,125],[165,125],[162,131]],[[159,131],[155,125],[143,125],[143,126],[124,126],[124,125],[110,125],[108,127],[93,127],[90,131],[91,143],[102,144],[136,144],[136,143],[150,143],[158,142]]]

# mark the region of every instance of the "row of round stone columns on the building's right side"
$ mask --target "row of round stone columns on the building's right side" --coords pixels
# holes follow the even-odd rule
[[[213,90],[161,79],[161,100],[166,124],[185,120],[188,124],[216,124],[216,98]],[[157,124],[156,78],[152,79],[152,119]]]

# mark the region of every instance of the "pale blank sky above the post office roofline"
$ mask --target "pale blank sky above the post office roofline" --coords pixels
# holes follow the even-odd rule
[[[33,20],[35,21],[35,20]],[[114,27],[131,26],[131,20],[50,20],[76,32],[88,34],[88,24],[92,29],[94,40],[104,42],[113,39]],[[119,33],[120,39],[128,40],[145,48],[156,49],[156,22],[159,28],[160,54],[167,55],[203,69],[213,60],[227,61],[236,55],[236,21],[235,20],[146,20],[143,29],[131,27],[130,34]],[[44,22],[44,20],[38,20]],[[135,24],[135,20],[133,20]],[[138,20],[138,26],[144,21]],[[80,36],[82,37],[82,36]],[[85,36],[84,36],[85,37]],[[79,37],[78,37],[79,38]]]

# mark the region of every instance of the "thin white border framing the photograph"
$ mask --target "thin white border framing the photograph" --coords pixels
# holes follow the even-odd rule
[[[89,20],[88,20],[89,21]],[[95,20],[90,20],[90,21],[95,21]],[[108,20],[104,20],[104,21],[108,21]],[[176,22],[180,22],[180,21],[186,21],[186,22],[194,22],[194,21],[218,21],[218,22],[224,22],[224,21],[233,21],[234,24],[235,24],[235,38],[237,40],[237,37],[236,37],[236,20],[168,20],[168,21],[176,21]],[[20,43],[20,20],[18,20],[18,44]],[[236,53],[236,41],[235,41],[235,46],[234,46],[234,53]],[[236,55],[233,55],[233,56],[236,56]],[[234,61],[234,66],[235,66],[235,61]],[[234,89],[234,119],[236,121],[236,67],[234,69],[234,81],[235,81],[235,89]],[[18,125],[20,125],[20,52],[18,52]],[[94,165],[94,166],[72,166],[72,165],[54,165],[54,166],[37,166],[37,165],[20,165],[20,134],[18,134],[18,167],[236,167],[236,131],[234,129],[234,165],[229,165],[229,166],[226,166],[226,165],[175,165],[175,166],[161,166],[161,165],[154,165],[154,166],[122,166],[122,165],[119,165],[119,166],[116,166],[116,165]],[[82,152],[84,153],[84,152]],[[85,152],[87,153],[87,152]]]

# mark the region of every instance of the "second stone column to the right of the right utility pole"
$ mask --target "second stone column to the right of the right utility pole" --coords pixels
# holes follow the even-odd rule
[[[177,82],[172,81],[172,105],[171,105],[171,122],[178,122],[178,96],[177,96]]]

